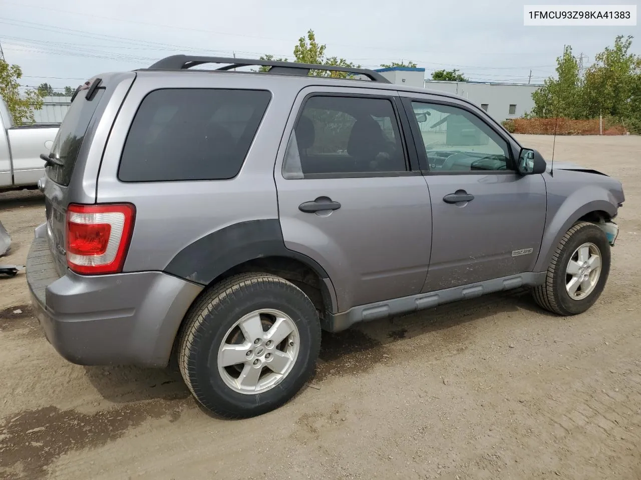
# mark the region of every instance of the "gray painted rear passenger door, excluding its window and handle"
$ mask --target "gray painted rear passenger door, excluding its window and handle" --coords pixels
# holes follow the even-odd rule
[[[363,92],[358,88],[304,88],[285,127],[275,176],[285,245],[316,260],[328,272],[341,311],[381,298],[420,292],[431,250],[431,209],[425,180],[420,176],[283,177],[285,150],[304,97],[337,91],[397,95],[377,89]],[[299,211],[298,205],[319,196],[328,196],[342,206],[329,214]],[[408,231],[412,236],[407,235]]]

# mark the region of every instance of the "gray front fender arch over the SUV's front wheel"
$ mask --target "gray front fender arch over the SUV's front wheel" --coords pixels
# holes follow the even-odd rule
[[[585,186],[569,195],[560,205],[554,205],[555,195],[548,194],[547,212],[551,216],[545,222],[545,231],[541,242],[541,250],[533,271],[547,270],[554,250],[560,243],[565,233],[582,216],[595,211],[606,212],[613,217],[617,214],[617,199],[608,189],[601,186]],[[556,198],[560,196],[556,195]],[[587,199],[590,200],[587,200]]]

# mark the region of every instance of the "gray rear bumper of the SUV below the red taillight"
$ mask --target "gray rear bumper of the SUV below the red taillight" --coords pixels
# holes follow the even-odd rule
[[[203,289],[156,271],[59,276],[46,238],[34,239],[26,267],[47,340],[80,365],[165,367],[183,316]]]

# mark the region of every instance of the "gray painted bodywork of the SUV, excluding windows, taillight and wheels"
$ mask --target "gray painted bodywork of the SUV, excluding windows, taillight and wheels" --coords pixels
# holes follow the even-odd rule
[[[202,285],[162,270],[187,246],[239,222],[279,221],[287,248],[315,260],[328,273],[324,285],[333,310],[329,328],[340,329],[354,321],[536,284],[569,225],[592,210],[613,216],[623,201],[617,180],[569,170],[524,177],[513,172],[283,177],[289,134],[310,92],[447,100],[485,120],[516,157],[521,146],[512,135],[457,95],[394,84],[242,72],[138,71],[99,77],[106,92],[88,127],[70,186],[51,181],[45,185],[53,218],[50,249],[65,244],[69,202],[132,202],[137,216],[124,273],[75,275],[65,268],[63,253],[54,255],[57,271],[53,260],[47,260],[46,268],[37,262],[28,266],[29,287],[47,336],[75,362],[163,364]],[[154,183],[117,179],[129,125],[147,93],[156,88],[230,86],[272,94],[237,177]],[[445,204],[442,197],[457,189],[473,193],[474,200]],[[299,211],[299,204],[319,196],[329,196],[342,207],[329,214]],[[483,234],[487,228],[489,233]],[[38,231],[42,234],[42,228]],[[38,239],[36,247],[46,250]],[[529,248],[530,254],[508,255]],[[29,261],[38,255],[30,252]],[[53,282],[38,279],[38,271],[44,270]]]

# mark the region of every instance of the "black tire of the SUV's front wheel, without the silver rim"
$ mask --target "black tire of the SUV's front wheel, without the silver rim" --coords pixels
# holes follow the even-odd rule
[[[574,300],[565,289],[566,269],[574,251],[584,243],[592,243],[601,253],[601,275],[585,298]],[[610,243],[600,227],[582,221],[575,223],[563,236],[554,251],[552,261],[547,269],[545,283],[533,289],[538,305],[558,315],[571,316],[585,312],[601,296],[610,274]]]

